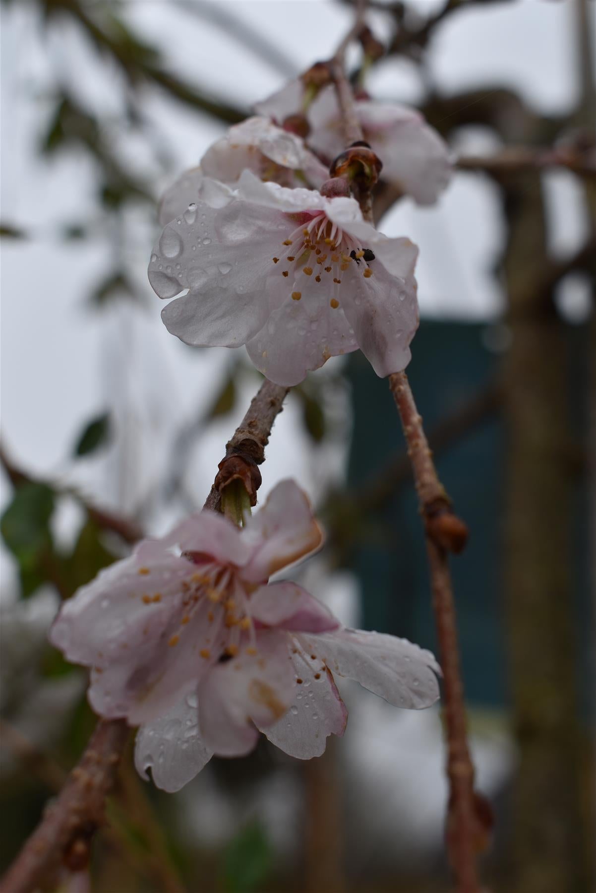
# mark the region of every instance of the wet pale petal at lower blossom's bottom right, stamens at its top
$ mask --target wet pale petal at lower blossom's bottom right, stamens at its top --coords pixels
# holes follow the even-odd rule
[[[302,653],[294,653],[292,663],[294,703],[285,716],[262,731],[286,754],[310,760],[324,752],[329,735],[344,734],[348,712],[326,666]]]

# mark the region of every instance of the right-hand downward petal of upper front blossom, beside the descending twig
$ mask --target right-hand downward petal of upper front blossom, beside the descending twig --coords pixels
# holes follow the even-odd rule
[[[342,307],[360,350],[382,378],[410,363],[410,341],[418,329],[416,280],[400,280],[380,261],[370,263],[365,279],[352,263],[344,273]]]

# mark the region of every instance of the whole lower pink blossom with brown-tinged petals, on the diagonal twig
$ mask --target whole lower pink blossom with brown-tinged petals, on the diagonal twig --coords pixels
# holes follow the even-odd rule
[[[213,754],[248,753],[260,730],[290,755],[320,755],[346,723],[334,673],[401,707],[438,697],[429,652],[344,629],[296,583],[268,583],[321,538],[302,490],[282,481],[243,530],[203,511],[62,606],[51,641],[92,668],[96,713],[140,724],[137,770],[158,787],[180,789]]]

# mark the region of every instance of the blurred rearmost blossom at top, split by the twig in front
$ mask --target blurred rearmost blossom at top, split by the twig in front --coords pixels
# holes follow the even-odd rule
[[[262,115],[283,121],[296,111],[296,89],[269,96],[256,105]],[[286,106],[286,107],[284,107]],[[383,177],[418,204],[434,204],[451,177],[449,150],[423,115],[407,105],[356,99],[364,139],[383,163]],[[345,148],[335,88],[323,88],[308,108],[309,145],[331,162]]]

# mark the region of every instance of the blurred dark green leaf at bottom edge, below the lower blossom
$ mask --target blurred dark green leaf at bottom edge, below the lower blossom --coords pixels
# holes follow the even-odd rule
[[[273,851],[261,825],[253,822],[230,841],[224,853],[226,893],[253,893],[273,865]]]

